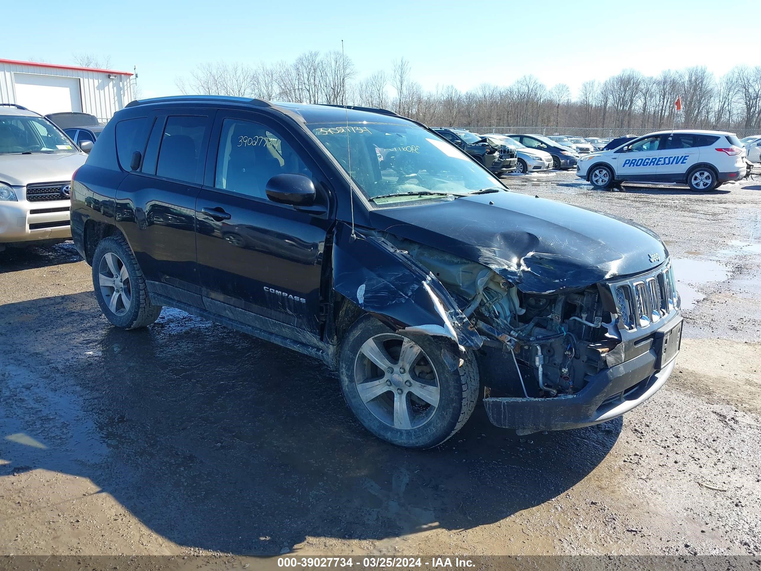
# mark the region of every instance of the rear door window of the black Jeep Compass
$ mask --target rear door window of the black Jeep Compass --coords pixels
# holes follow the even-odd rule
[[[209,117],[196,115],[168,116],[158,151],[156,175],[158,177],[201,183],[201,155],[209,131]]]

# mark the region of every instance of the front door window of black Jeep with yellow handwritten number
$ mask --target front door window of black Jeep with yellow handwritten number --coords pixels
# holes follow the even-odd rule
[[[225,119],[214,186],[266,199],[266,183],[276,174],[312,178],[304,161],[278,132],[253,121]]]

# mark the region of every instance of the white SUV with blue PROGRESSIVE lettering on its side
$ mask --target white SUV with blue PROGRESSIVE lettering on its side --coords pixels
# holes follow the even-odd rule
[[[631,181],[686,184],[705,192],[745,174],[743,145],[722,131],[654,132],[578,160],[578,177],[597,188]]]

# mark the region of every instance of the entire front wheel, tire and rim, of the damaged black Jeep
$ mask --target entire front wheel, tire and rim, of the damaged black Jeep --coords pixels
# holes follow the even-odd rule
[[[342,342],[339,378],[346,404],[379,439],[404,448],[431,448],[470,418],[478,400],[475,356],[451,371],[442,338],[396,333],[361,317]]]

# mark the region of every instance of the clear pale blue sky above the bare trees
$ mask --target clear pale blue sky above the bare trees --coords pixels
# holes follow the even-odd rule
[[[85,7],[88,8],[85,8]],[[482,7],[482,8],[479,8]],[[345,42],[361,75],[404,57],[424,88],[509,85],[533,73],[548,87],[633,67],[707,65],[721,75],[761,65],[757,2],[8,2],[0,57],[72,63],[73,53],[137,66],[145,96],[176,94],[199,62],[291,61]],[[10,26],[18,18],[24,25]],[[55,32],[46,33],[46,27]],[[64,40],[63,36],[69,38]]]

